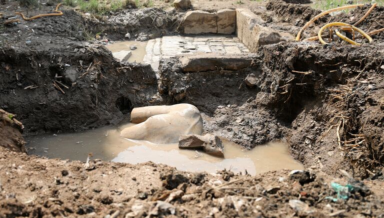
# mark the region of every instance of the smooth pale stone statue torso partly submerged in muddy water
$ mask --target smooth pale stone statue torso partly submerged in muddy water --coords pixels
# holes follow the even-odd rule
[[[190,104],[133,108],[130,121],[137,125],[123,129],[120,135],[128,139],[153,143],[175,143],[180,135],[202,134],[202,118]]]

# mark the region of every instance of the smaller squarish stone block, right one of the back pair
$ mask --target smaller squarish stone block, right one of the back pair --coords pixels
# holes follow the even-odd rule
[[[236,29],[236,11],[223,9],[217,12],[217,33],[232,34]]]

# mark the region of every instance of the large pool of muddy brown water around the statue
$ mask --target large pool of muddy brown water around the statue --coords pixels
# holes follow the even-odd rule
[[[269,170],[303,168],[289,155],[287,145],[282,142],[270,142],[247,151],[223,140],[225,159],[222,159],[202,151],[178,149],[177,144],[153,144],[121,138],[119,132],[129,125],[133,124],[81,133],[33,136],[27,139],[28,153],[81,161],[92,153],[92,158],[132,164],[152,161],[193,172],[216,172],[225,168],[242,173],[247,170],[254,175]]]

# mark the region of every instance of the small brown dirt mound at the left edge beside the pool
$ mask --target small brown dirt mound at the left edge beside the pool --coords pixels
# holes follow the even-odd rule
[[[22,124],[13,114],[0,109],[0,146],[11,151],[26,152],[25,141],[21,136]]]

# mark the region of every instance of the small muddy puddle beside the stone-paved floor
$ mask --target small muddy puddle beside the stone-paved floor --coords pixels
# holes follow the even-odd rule
[[[109,51],[119,52],[119,51],[131,51],[132,55],[128,58],[128,62],[137,62],[142,63],[142,60],[145,56],[145,47],[147,42],[137,42],[137,41],[124,41],[124,42],[115,42],[106,46]],[[135,50],[130,50],[129,47],[134,45],[137,47]]]

